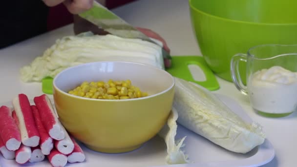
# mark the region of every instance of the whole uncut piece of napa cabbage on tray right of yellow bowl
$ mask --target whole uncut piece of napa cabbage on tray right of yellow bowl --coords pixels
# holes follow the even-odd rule
[[[230,151],[247,153],[264,143],[265,133],[256,122],[246,122],[211,91],[175,78],[173,108],[177,123]]]

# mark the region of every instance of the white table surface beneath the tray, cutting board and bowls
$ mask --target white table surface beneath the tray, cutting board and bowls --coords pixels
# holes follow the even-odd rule
[[[187,0],[138,0],[113,10],[134,26],[150,28],[168,43],[171,55],[201,55],[191,28]],[[72,24],[0,50],[0,102],[11,101],[19,93],[30,97],[42,94],[40,83],[22,83],[19,69],[31,63],[56,39],[72,35]],[[1,39],[4,40],[4,39]],[[293,167],[296,164],[297,114],[284,118],[257,115],[246,96],[233,83],[217,78],[220,89],[214,91],[234,98],[256,122],[275,147],[276,156],[263,167]]]

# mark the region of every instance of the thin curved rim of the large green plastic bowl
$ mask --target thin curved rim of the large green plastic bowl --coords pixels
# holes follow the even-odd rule
[[[195,11],[198,12],[198,13],[201,13],[201,14],[207,15],[207,16],[209,16],[209,17],[219,19],[219,20],[230,21],[230,22],[236,22],[236,23],[255,24],[255,25],[279,25],[279,26],[297,25],[297,23],[258,23],[258,22],[237,21],[237,20],[232,20],[232,19],[222,18],[222,17],[219,17],[219,16],[211,15],[211,14],[209,14],[209,13],[205,13],[205,12],[203,12],[203,11],[201,11],[201,10],[195,8],[195,7],[192,5],[191,1],[192,1],[192,0],[189,0],[189,5],[190,5],[190,8],[191,8],[192,10],[195,10]]]

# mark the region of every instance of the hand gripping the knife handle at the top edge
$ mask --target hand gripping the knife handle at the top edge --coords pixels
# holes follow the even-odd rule
[[[94,0],[43,0],[47,6],[56,6],[64,3],[68,11],[72,14],[79,14],[90,9]]]

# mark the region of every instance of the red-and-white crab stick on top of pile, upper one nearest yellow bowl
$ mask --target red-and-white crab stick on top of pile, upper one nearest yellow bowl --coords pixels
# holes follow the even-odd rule
[[[38,108],[41,116],[42,124],[46,129],[49,136],[55,140],[62,140],[65,137],[63,128],[59,123],[58,116],[49,100],[49,98],[43,94],[35,97],[34,102]]]

